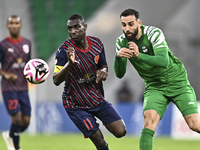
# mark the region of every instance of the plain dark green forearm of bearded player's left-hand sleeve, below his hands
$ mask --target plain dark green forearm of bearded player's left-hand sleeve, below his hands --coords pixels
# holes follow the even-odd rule
[[[119,58],[117,57],[117,53],[115,54],[115,61],[114,61],[114,71],[115,75],[118,78],[122,78],[126,73],[126,66],[127,66],[127,58]]]

